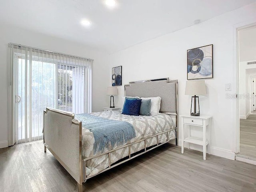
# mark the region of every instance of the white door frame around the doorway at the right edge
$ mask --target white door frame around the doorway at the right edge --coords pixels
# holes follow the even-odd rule
[[[234,93],[236,99],[234,100],[234,152],[239,153],[240,151],[240,107],[239,99],[239,30],[256,26],[256,19],[241,22],[233,26],[234,33]]]

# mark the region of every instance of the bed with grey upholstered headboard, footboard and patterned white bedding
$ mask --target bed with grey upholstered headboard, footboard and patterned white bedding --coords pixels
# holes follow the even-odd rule
[[[177,142],[178,82],[168,78],[130,82],[124,86],[125,96],[161,97],[160,113],[152,116],[128,116],[122,111],[96,112],[95,118],[128,122],[135,137],[121,146],[109,144],[94,150],[94,135],[82,126],[81,115],[52,108],[44,111],[44,151],[48,149],[78,183],[136,158],[162,144]],[[84,123],[84,122],[83,122]]]

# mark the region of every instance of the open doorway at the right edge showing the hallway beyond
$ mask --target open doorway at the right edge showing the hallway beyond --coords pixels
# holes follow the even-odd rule
[[[256,26],[238,30],[239,150],[256,160]]]

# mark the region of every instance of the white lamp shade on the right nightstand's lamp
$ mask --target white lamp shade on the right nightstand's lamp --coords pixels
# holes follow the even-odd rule
[[[206,95],[204,81],[187,81],[185,95]]]

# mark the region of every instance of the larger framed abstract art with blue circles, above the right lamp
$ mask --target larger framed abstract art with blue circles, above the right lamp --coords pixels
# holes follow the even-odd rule
[[[213,78],[213,45],[187,50],[187,79]]]

